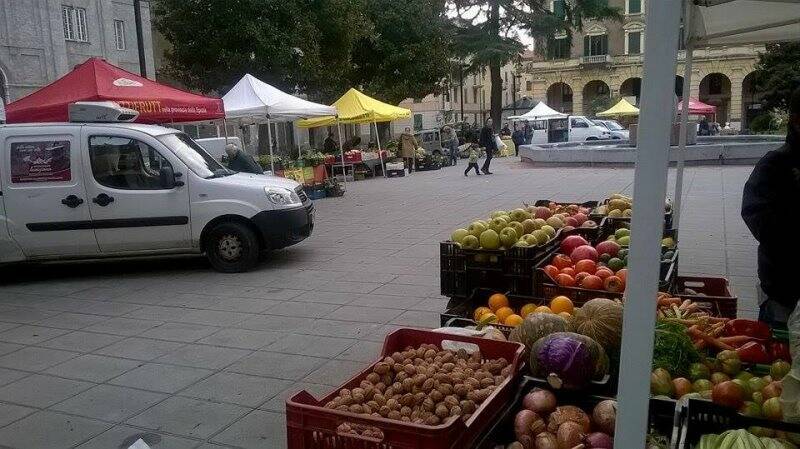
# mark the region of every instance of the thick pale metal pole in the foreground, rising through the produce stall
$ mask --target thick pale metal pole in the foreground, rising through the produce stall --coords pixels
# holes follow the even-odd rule
[[[632,241],[622,325],[616,449],[645,446],[655,331],[669,137],[675,108],[678,30],[684,0],[649,2],[639,142],[634,175]]]

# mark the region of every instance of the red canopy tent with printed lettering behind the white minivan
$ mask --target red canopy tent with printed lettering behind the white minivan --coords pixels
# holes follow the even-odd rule
[[[8,123],[66,122],[76,101],[114,101],[139,112],[138,123],[180,123],[225,117],[222,99],[175,89],[90,58],[36,92],[6,106]]]

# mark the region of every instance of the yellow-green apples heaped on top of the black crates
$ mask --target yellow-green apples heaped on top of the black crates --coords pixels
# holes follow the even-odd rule
[[[544,220],[534,218],[524,209],[492,212],[488,220],[473,221],[466,229],[456,229],[450,235],[453,242],[465,249],[509,249],[512,247],[542,246],[564,227],[558,217]]]

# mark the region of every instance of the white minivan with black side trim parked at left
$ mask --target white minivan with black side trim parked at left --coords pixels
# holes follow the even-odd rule
[[[241,272],[314,228],[295,181],[154,125],[0,125],[0,188],[0,263],[205,253]]]

